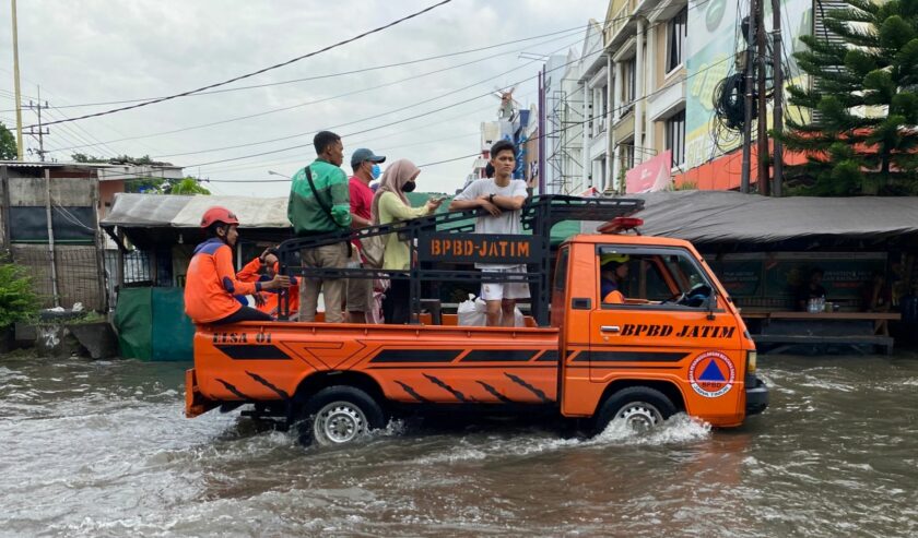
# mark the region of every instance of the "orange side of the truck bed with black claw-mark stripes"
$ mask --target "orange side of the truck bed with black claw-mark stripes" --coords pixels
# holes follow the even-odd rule
[[[556,328],[246,322],[201,326],[186,413],[285,400],[308,378],[350,372],[402,403],[546,404]]]

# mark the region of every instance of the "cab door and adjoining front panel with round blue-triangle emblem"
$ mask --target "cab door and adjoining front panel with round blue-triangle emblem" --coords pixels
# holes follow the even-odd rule
[[[590,381],[669,382],[691,415],[733,420],[743,391],[742,330],[695,256],[678,248],[602,246],[595,263],[600,283],[590,351],[577,358],[589,362]],[[624,299],[608,292],[610,279]]]

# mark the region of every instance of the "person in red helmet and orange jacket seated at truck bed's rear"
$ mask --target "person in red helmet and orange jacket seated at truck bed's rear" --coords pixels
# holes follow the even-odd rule
[[[239,321],[271,321],[264,312],[246,307],[234,295],[290,287],[290,277],[244,283],[233,268],[233,247],[239,238],[239,219],[226,207],[214,206],[201,217],[208,240],[195,248],[185,280],[185,313],[198,324],[221,325]]]

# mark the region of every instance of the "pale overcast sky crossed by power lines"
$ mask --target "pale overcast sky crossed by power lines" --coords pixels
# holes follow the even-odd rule
[[[434,3],[436,0],[20,0],[23,100],[25,105],[35,98],[40,85],[43,100],[64,107],[51,108],[46,119],[103,111],[127,104],[72,106],[160,97],[222,82]],[[379,34],[223,88],[343,71],[358,73],[183,97],[50,125],[46,148],[52,150],[50,155],[58,160],[70,160],[74,152],[105,157],[150,155],[186,167],[186,174],[209,178],[214,194],[257,196],[286,195],[289,183],[268,170],[290,176],[315,158],[313,134],[321,129],[342,135],[349,174],[350,153],[357,147],[387,155],[389,162],[410,158],[422,165],[452,159],[478,152],[480,123],[496,118],[498,99],[483,94],[528,80],[515,95],[525,107],[536,103],[541,62],[521,59],[520,52],[579,50],[587,21],[601,21],[607,5],[600,0],[454,0]],[[9,2],[0,10],[0,50],[5,52],[5,58],[0,58],[0,121],[12,130]],[[546,35],[562,31],[570,32]],[[538,36],[544,37],[522,40]],[[506,41],[516,43],[365,71]],[[419,76],[433,71],[439,72]],[[415,79],[398,82],[408,77]],[[367,89],[387,83],[396,84]],[[367,91],[342,96],[362,89]],[[266,113],[285,107],[294,108]],[[254,115],[258,116],[243,118]],[[34,122],[35,113],[24,110],[23,123]],[[220,123],[203,127],[215,122]],[[282,138],[285,140],[266,142]],[[24,145],[37,148],[34,140]],[[227,146],[242,147],[217,150]],[[276,153],[255,156],[266,152]],[[421,188],[451,192],[462,186],[471,166],[472,158],[463,158],[426,167],[419,178]]]

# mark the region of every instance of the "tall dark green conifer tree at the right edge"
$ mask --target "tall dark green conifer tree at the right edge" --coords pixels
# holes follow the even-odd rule
[[[790,104],[817,112],[773,133],[807,162],[786,167],[789,192],[829,196],[918,193],[918,0],[845,0],[824,34],[795,57],[810,88]]]

